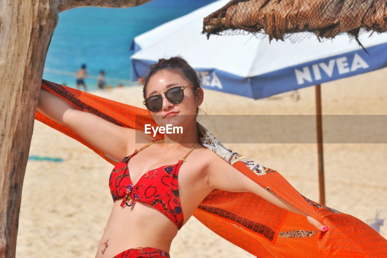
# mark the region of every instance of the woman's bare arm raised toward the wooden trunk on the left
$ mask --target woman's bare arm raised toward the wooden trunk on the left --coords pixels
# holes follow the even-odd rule
[[[128,153],[128,146],[135,144],[135,129],[118,126],[80,111],[45,89],[40,91],[38,111],[58,124],[67,126],[115,160],[122,160]]]

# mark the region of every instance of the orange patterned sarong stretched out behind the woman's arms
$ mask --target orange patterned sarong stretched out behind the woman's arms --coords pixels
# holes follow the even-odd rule
[[[157,126],[146,109],[101,98],[67,86],[42,81],[41,87],[65,99],[79,110],[97,115],[123,127],[145,130]],[[113,165],[117,162],[66,126],[36,111],[36,119],[85,144]],[[199,125],[200,142],[241,173],[283,200],[296,206],[329,229],[316,230],[306,217],[284,210],[253,193],[215,189],[196,209],[194,216],[231,243],[258,257],[387,257],[387,240],[367,224],[309,200],[276,170],[228,150]],[[157,139],[163,135],[158,134]]]

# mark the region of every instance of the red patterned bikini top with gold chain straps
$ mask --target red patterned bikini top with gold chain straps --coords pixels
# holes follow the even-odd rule
[[[183,226],[184,216],[178,190],[179,169],[198,142],[175,165],[164,165],[157,169],[149,170],[140,177],[136,184],[133,184],[130,179],[127,161],[153,142],[148,143],[139,150],[135,150],[132,155],[123,158],[121,162],[117,163],[110,173],[110,193],[113,201],[123,198],[121,206],[124,204],[132,206],[135,201],[152,205],[170,218],[177,228],[180,229]]]

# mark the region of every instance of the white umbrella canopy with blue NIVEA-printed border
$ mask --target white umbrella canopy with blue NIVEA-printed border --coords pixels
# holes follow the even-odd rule
[[[201,34],[203,18],[229,0],[219,0],[137,36],[132,47],[132,81],[159,58],[181,55],[196,69],[203,88],[254,99],[387,66],[387,33],[319,42],[315,36],[291,43],[249,35]]]

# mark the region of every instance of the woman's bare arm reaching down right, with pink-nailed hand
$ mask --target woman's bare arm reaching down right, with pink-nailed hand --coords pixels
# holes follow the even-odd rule
[[[307,213],[302,212],[295,206],[284,201],[276,194],[260,186],[219,157],[214,157],[211,159],[210,165],[208,166],[206,182],[211,189],[221,189],[229,192],[251,192],[253,194],[257,194],[265,200],[273,203],[274,205],[306,216],[308,222],[320,231],[324,232],[328,229],[318,220],[310,217]]]

